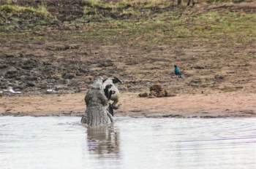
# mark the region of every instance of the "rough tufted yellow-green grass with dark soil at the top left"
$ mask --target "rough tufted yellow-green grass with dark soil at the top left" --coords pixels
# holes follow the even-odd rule
[[[223,2],[241,2],[249,0],[204,0],[200,4],[221,4]],[[36,25],[52,25],[56,21],[70,23],[102,22],[105,20],[136,19],[154,17],[165,12],[186,11],[186,1],[177,6],[170,0],[75,0],[75,1],[1,1],[0,30],[31,28]],[[200,5],[198,4],[198,5]],[[179,12],[178,15],[181,15]],[[29,26],[26,26],[29,25]]]

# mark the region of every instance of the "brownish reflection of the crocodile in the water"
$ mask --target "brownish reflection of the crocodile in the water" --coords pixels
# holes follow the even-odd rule
[[[113,125],[107,127],[88,127],[87,146],[90,152],[99,154],[101,157],[110,157],[109,154],[115,154],[118,157],[118,130]]]

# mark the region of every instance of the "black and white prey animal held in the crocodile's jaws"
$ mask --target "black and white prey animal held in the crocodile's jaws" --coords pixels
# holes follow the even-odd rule
[[[118,109],[117,103],[118,99],[120,97],[120,93],[118,88],[116,87],[117,83],[123,83],[120,79],[117,77],[109,77],[107,79],[103,80],[103,88],[105,89],[108,84],[111,84],[112,86],[108,88],[109,91],[112,91],[112,95],[110,96],[110,100],[113,101],[112,107],[113,109]],[[114,92],[114,93],[113,93]]]

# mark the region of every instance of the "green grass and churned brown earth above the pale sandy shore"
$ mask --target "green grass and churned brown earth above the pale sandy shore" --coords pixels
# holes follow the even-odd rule
[[[45,8],[51,12],[50,2]],[[81,10],[80,2],[74,1],[77,5],[70,9]],[[22,1],[18,4],[23,5]],[[7,87],[23,95],[41,95],[48,90],[57,94],[80,93],[89,87],[94,76],[118,76],[124,81],[118,86],[122,93],[143,92],[156,83],[162,84],[170,95],[256,93],[255,12],[211,10],[209,5],[159,12],[150,8],[149,12],[142,12],[148,17],[139,20],[111,17],[85,24],[72,20],[57,27],[31,25],[29,30],[19,25],[19,31],[10,31],[9,24],[15,23],[20,13],[45,16],[48,12],[34,6],[4,6],[5,12],[0,15],[7,15],[10,22],[3,17],[0,24],[9,30],[0,34],[0,93]],[[73,13],[61,12],[66,16]],[[24,17],[33,23],[30,18]],[[174,64],[181,68],[184,79],[174,76]]]

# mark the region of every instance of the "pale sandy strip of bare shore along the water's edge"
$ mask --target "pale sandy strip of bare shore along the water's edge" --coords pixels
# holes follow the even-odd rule
[[[81,116],[84,94],[0,98],[0,114],[13,116]],[[139,98],[125,93],[116,116],[129,117],[256,117],[256,94],[212,93],[170,98]]]

